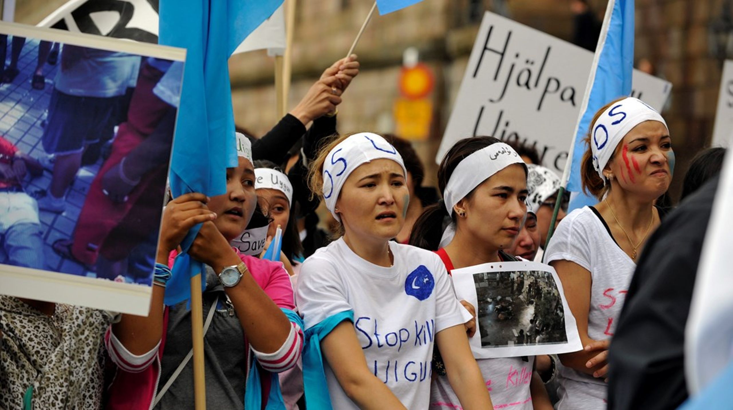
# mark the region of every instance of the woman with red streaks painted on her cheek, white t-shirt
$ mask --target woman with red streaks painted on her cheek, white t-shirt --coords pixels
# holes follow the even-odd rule
[[[639,253],[660,223],[654,201],[674,169],[666,122],[641,100],[615,100],[591,124],[581,178],[600,202],[567,215],[545,253],[585,346],[560,356],[561,410],[606,408],[608,344]]]

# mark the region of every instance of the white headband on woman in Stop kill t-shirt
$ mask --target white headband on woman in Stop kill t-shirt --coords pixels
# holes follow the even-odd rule
[[[408,171],[397,149],[374,133],[351,135],[328,152],[323,162],[323,199],[325,207],[331,211],[331,215],[334,215],[336,220],[341,222],[341,218],[334,209],[336,209],[336,199],[339,198],[346,179],[359,165],[381,158],[398,163],[407,177]]]

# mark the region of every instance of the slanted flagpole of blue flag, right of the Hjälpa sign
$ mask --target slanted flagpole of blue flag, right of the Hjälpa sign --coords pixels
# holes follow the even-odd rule
[[[562,204],[562,195],[567,190],[567,183],[570,181],[570,168],[572,164],[572,156],[575,154],[575,140],[578,138],[578,130],[583,122],[583,116],[588,109],[588,101],[590,100],[591,91],[593,89],[593,83],[595,81],[595,73],[598,68],[598,61],[600,60],[600,54],[603,51],[603,45],[605,45],[605,37],[608,36],[608,28],[611,26],[611,16],[614,14],[614,5],[616,0],[608,1],[608,5],[605,7],[605,15],[603,16],[603,26],[600,29],[600,36],[598,36],[598,43],[593,56],[593,64],[591,65],[591,72],[588,75],[588,81],[586,82],[586,92],[583,93],[583,103],[581,103],[581,111],[578,112],[578,121],[575,122],[575,130],[572,133],[572,141],[570,143],[570,149],[567,152],[567,160],[565,160],[565,168],[562,170],[562,180],[560,189],[557,193],[557,199],[555,201],[555,209],[553,209],[552,220],[550,220],[550,228],[548,229],[548,238],[545,240],[545,249],[550,244],[550,238],[555,233],[555,221],[557,215],[560,212],[560,206]]]

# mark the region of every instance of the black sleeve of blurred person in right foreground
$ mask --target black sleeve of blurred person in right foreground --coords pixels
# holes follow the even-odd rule
[[[688,397],[685,324],[715,187],[671,212],[641,255],[611,341],[609,410],[677,409]]]

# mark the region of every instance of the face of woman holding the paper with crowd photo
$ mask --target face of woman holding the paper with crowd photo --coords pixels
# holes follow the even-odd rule
[[[466,230],[476,239],[499,250],[512,247],[527,212],[527,174],[520,164],[512,164],[474,190],[454,206],[459,230]]]

